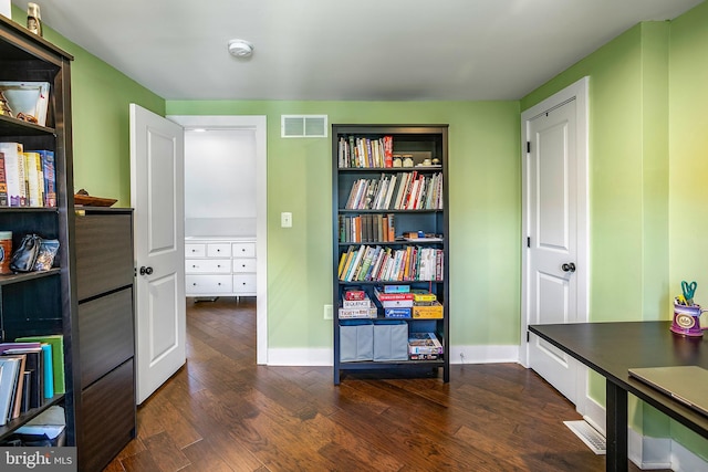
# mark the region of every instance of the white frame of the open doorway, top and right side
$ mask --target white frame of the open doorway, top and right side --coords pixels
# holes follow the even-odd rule
[[[256,361],[268,364],[268,161],[264,115],[168,115],[185,128],[252,129],[256,133]]]

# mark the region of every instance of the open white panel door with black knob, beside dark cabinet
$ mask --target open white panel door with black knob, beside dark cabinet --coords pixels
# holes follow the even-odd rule
[[[138,405],[186,361],[183,155],[179,125],[131,104]]]

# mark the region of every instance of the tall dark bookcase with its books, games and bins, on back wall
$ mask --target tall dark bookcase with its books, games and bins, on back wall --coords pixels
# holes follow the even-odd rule
[[[353,370],[441,369],[449,381],[447,132],[447,125],[332,125],[334,384]],[[386,310],[376,293],[402,285],[431,294],[441,316]],[[340,310],[345,294],[361,292],[368,307]],[[416,333],[434,333],[442,353],[409,355]]]

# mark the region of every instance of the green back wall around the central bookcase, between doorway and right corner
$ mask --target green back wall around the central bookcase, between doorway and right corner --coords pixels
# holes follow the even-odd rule
[[[332,322],[322,318],[323,305],[332,303],[331,139],[283,139],[280,115],[325,114],[330,124],[449,124],[451,343],[518,345],[518,102],[170,101],[167,114],[268,116],[272,348],[332,346]],[[282,211],[293,213],[292,228],[280,228]]]

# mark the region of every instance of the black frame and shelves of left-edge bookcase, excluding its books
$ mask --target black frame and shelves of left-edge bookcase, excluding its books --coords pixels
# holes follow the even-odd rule
[[[0,141],[20,143],[24,150],[54,154],[56,208],[0,207],[0,230],[12,231],[12,245],[37,233],[56,239],[60,249],[54,269],[45,272],[0,276],[0,325],[2,342],[21,336],[61,334],[64,346],[65,392],[46,399],[39,408],[0,427],[0,439],[49,407],[60,405],[66,417],[66,445],[76,445],[81,398],[76,395],[77,303],[74,284],[74,201],[71,126],[71,73],[73,57],[43,38],[0,15],[0,81],[48,82],[46,126],[0,116]]]

